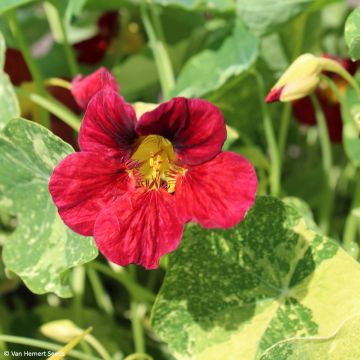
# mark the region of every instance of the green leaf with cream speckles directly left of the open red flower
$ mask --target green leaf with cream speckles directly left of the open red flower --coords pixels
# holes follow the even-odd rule
[[[0,137],[1,202],[18,221],[3,259],[37,294],[71,296],[67,270],[97,256],[92,238],[62,222],[48,190],[54,167],[71,152],[47,129],[23,119],[11,120]]]

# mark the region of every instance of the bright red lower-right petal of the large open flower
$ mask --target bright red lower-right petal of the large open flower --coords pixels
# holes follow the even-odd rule
[[[213,160],[189,168],[176,182],[179,216],[206,228],[229,228],[253,205],[256,173],[248,160],[222,152]]]

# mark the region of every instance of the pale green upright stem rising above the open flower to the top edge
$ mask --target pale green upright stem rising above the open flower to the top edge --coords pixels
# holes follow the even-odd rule
[[[155,29],[150,21],[146,3],[141,3],[141,18],[145,31],[150,41],[150,47],[155,59],[156,68],[159,74],[160,85],[165,99],[169,99],[171,90],[175,86],[175,76],[165,44],[158,39]]]

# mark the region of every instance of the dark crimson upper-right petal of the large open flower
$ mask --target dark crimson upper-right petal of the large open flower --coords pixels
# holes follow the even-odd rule
[[[161,135],[173,143],[177,156],[195,165],[212,159],[226,139],[220,110],[201,99],[174,98],[145,113],[136,125],[139,135]]]

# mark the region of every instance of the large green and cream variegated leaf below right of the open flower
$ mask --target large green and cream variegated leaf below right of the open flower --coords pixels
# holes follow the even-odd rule
[[[180,360],[255,359],[360,311],[359,264],[275,198],[231,230],[188,226],[169,263],[152,323]]]

